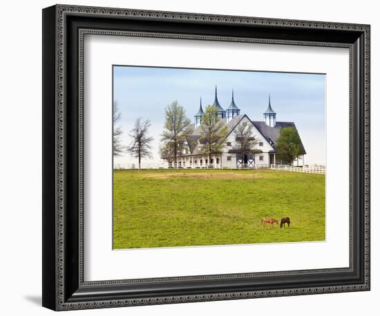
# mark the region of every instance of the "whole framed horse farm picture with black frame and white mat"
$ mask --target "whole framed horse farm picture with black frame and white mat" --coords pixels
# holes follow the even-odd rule
[[[370,26],[43,10],[43,306],[370,290]]]

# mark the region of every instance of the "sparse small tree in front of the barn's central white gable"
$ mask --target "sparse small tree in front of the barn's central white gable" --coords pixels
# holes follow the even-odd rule
[[[254,128],[253,125],[243,122],[234,130],[236,145],[232,151],[236,152],[242,159],[244,155],[255,155],[262,152],[260,149],[254,148],[258,144],[258,140],[254,138],[252,128]]]

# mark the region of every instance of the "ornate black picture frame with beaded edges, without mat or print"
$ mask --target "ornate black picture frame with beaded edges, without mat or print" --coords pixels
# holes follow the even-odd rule
[[[350,50],[350,267],[84,281],[84,34]],[[43,10],[43,299],[53,310],[370,290],[370,26],[57,5]]]

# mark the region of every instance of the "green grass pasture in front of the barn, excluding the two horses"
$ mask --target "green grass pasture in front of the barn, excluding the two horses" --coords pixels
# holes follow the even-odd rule
[[[289,217],[290,228],[262,226]],[[325,240],[325,175],[115,170],[113,248]]]

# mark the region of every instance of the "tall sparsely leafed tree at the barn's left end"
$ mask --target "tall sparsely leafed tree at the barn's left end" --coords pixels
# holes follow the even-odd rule
[[[164,132],[161,135],[161,141],[164,142],[160,147],[161,157],[177,162],[177,156],[182,152],[184,141],[192,130],[191,121],[178,101],[169,104],[165,109]]]

